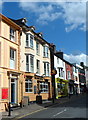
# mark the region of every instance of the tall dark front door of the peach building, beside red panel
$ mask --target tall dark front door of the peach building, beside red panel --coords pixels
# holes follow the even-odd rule
[[[17,98],[17,89],[16,89],[16,79],[12,78],[11,79],[11,103],[16,103]]]

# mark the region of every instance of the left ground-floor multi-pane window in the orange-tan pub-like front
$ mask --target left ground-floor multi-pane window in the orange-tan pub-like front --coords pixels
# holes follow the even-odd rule
[[[27,88],[26,88],[26,84],[28,86]],[[26,77],[26,79],[25,79],[25,92],[26,93],[32,93],[33,92],[33,80],[30,77]]]

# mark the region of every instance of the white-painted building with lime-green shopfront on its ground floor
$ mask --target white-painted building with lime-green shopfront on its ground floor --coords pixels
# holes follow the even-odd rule
[[[68,93],[68,80],[66,80],[65,62],[57,55],[54,55],[54,68],[57,70],[55,75],[56,98],[66,96]]]

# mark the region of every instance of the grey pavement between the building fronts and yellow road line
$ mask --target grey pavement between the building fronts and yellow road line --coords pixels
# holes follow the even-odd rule
[[[0,118],[2,120],[20,118],[20,116],[25,116],[27,114],[33,114],[33,113],[42,111],[46,109],[47,107],[71,101],[73,99],[76,99],[79,96],[81,95],[73,95],[71,96],[70,99],[69,97],[59,98],[59,99],[54,100],[54,103],[52,101],[43,101],[42,104],[30,103],[29,105],[24,106],[22,108],[21,107],[13,108],[11,111],[11,116],[8,116],[8,112],[2,112],[0,113]]]

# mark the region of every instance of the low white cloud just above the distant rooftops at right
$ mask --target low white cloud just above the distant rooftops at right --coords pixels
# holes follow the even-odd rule
[[[73,54],[64,54],[64,59],[71,62],[71,63],[77,63],[80,64],[80,62],[84,62],[85,65],[88,65],[87,60],[88,56],[84,53],[81,53],[79,55],[73,55]]]

